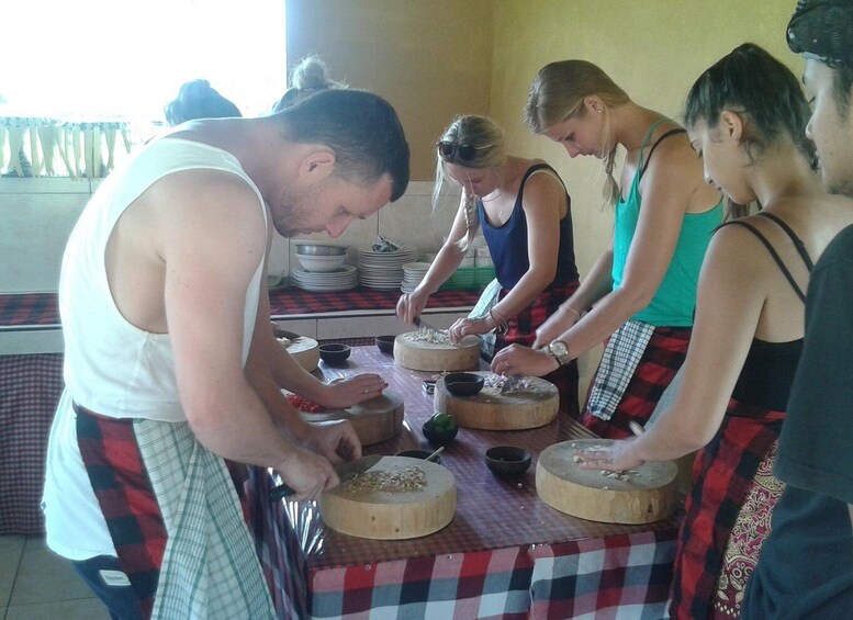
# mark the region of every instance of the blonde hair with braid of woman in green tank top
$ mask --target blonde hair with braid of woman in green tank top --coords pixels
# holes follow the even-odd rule
[[[585,97],[597,97],[611,108],[630,102],[628,94],[599,67],[586,60],[561,60],[542,67],[530,84],[525,105],[525,123],[536,134],[545,133],[563,121],[582,117],[586,113]],[[605,120],[605,139],[609,142],[609,116]],[[606,176],[604,199],[614,205],[619,198],[619,184],[613,176],[616,164],[616,145],[609,153],[602,153]]]

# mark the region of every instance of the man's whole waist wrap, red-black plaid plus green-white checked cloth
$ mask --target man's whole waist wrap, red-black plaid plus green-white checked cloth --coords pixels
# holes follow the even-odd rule
[[[274,618],[223,460],[184,422],[75,406],[80,453],[144,618]]]

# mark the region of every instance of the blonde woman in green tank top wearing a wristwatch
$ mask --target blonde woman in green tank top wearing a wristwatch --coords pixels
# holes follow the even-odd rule
[[[684,129],[631,101],[592,63],[543,67],[526,122],[570,157],[605,161],[614,236],[583,285],[537,330],[534,348],[508,347],[492,369],[543,375],[607,340],[583,422],[601,437],[628,437],[630,422],[650,418],[684,361],[699,267],[722,221],[722,200],[705,184]],[[627,153],[617,184],[620,146]]]

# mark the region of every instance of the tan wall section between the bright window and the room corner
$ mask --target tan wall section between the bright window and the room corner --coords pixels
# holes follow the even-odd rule
[[[333,79],[396,109],[412,178],[435,178],[433,144],[456,114],[487,114],[490,0],[285,0],[288,65],[319,55]]]

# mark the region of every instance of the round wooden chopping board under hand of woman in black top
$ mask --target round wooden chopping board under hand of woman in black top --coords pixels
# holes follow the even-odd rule
[[[672,461],[647,462],[608,477],[582,470],[574,451],[604,447],[610,439],[573,439],[549,446],[536,465],[539,498],[562,512],[606,523],[651,523],[671,516],[678,503],[678,467]]]

